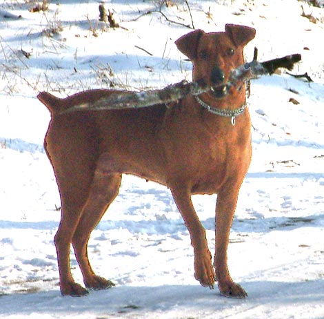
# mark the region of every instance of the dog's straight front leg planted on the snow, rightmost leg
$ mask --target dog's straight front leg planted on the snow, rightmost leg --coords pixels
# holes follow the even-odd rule
[[[221,295],[232,298],[245,298],[247,293],[232,280],[227,267],[227,247],[238,193],[239,189],[236,190],[233,185],[230,185],[228,189],[223,189],[217,195],[214,267]]]

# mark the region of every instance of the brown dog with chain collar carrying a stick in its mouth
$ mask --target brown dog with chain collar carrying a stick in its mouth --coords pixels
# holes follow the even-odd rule
[[[195,30],[176,41],[193,63],[193,79],[211,87],[243,64],[243,48],[255,30],[227,24],[225,32]],[[245,298],[227,269],[227,245],[237,196],[251,160],[250,115],[245,84],[190,95],[168,106],[128,110],[83,110],[59,114],[81,102],[114,93],[88,90],[65,99],[49,93],[38,98],[52,115],[45,150],[61,195],[62,216],[57,247],[61,293],[83,296],[87,289],[70,272],[74,247],[85,287],[113,284],[94,274],[88,260],[90,233],[119,192],[122,173],[159,182],[171,190],[194,247],[194,277],[204,287],[217,278],[223,296]],[[235,121],[236,120],[236,121]],[[191,195],[217,193],[214,267]]]

